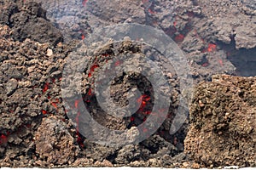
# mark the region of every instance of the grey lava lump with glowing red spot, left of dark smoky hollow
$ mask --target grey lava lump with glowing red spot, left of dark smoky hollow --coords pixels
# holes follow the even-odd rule
[[[201,22],[198,23],[200,26]],[[197,82],[211,80],[214,74],[229,74],[236,72],[236,67],[230,62],[223,49],[216,43],[207,43],[197,31],[190,31],[182,42],[183,51],[188,57],[192,77]]]

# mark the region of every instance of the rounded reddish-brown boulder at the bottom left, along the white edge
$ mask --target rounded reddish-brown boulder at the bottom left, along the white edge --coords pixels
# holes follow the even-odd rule
[[[55,116],[44,118],[35,133],[35,147],[39,160],[36,164],[48,167],[52,165],[70,165],[79,153],[73,136],[67,130],[67,124]]]

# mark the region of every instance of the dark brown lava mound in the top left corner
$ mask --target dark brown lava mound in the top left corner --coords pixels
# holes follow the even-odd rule
[[[57,30],[46,19],[46,10],[38,3],[4,0],[0,8],[0,24],[13,29],[11,37],[16,41],[24,41],[30,38],[37,42],[49,42],[56,45],[62,42],[61,31]]]

